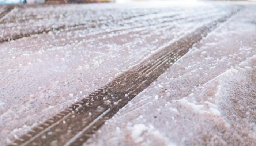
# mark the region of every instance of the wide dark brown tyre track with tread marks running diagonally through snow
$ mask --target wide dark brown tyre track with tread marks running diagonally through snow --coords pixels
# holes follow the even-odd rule
[[[236,11],[237,12],[237,11]],[[8,146],[80,146],[106,120],[147,88],[194,44],[236,12],[197,28],[123,72],[105,87],[72,104]],[[73,95],[70,95],[73,96]]]

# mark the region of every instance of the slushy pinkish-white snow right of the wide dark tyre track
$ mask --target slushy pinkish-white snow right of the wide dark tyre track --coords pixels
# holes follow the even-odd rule
[[[223,23],[84,145],[256,145],[255,20]]]

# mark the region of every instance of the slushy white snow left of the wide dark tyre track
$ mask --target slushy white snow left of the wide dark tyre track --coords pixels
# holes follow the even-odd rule
[[[237,9],[102,5],[20,6],[1,18],[0,145],[103,87],[166,43]],[[133,138],[138,133],[158,137],[155,128],[147,125]]]

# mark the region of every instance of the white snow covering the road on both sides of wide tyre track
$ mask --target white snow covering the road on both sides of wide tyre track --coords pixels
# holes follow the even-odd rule
[[[254,93],[255,15],[246,7],[125,106],[87,144],[204,145],[210,140],[229,142],[227,138],[240,142],[240,137],[255,142],[251,134],[255,119],[250,118],[255,111],[239,120],[240,107],[220,110],[242,103],[253,109],[253,99],[230,97]],[[14,7],[0,18],[0,145],[103,87],[170,41],[237,8],[207,4]],[[237,87],[243,92],[233,89]],[[225,131],[214,128],[214,121],[236,134],[221,137]],[[212,137],[204,133],[207,130],[213,131]]]

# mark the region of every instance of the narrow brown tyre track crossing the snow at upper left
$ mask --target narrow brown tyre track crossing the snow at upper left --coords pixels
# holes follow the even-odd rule
[[[12,9],[14,8],[14,6],[11,6]],[[18,8],[22,8],[24,9],[23,7],[18,7]],[[214,14],[215,12],[217,12],[218,9],[213,9],[213,11],[210,11],[209,9],[207,10],[203,10],[202,12],[199,12],[199,15],[200,14],[206,14],[206,12],[210,12],[212,14]],[[105,24],[110,24],[110,23],[119,23],[119,22],[122,22],[123,25],[124,24],[131,24],[131,23],[134,23],[134,20],[131,21],[132,19],[136,19],[136,18],[143,18],[143,17],[146,17],[147,16],[150,16],[150,15],[158,15],[158,14],[164,14],[163,16],[160,16],[160,17],[155,17],[153,16],[153,19],[164,19],[164,18],[174,18],[173,20],[182,20],[182,19],[186,19],[186,18],[181,18],[180,16],[178,16],[178,14],[169,14],[169,15],[166,15],[166,13],[168,14],[169,12],[173,13],[172,10],[165,10],[165,11],[157,11],[157,12],[151,12],[151,13],[146,13],[146,14],[139,14],[139,15],[132,15],[132,16],[127,16],[127,17],[121,17],[121,18],[116,18],[116,19],[108,19],[108,20],[89,20],[89,22],[86,22],[86,23],[76,23],[76,24],[71,24],[71,25],[68,25],[68,24],[63,24],[63,25],[59,25],[57,27],[42,27],[42,28],[38,28],[37,30],[33,30],[33,31],[27,31],[27,32],[20,32],[18,34],[14,34],[14,35],[11,35],[11,36],[7,36],[7,37],[3,37],[3,38],[0,38],[0,43],[3,43],[3,42],[8,42],[8,41],[11,41],[11,40],[17,40],[17,39],[21,39],[21,38],[24,38],[24,37],[30,37],[30,36],[33,36],[33,35],[39,35],[39,34],[45,34],[45,33],[48,33],[48,32],[51,32],[51,31],[67,31],[67,32],[70,32],[70,31],[76,31],[76,30],[84,30],[84,29],[88,29],[88,28],[95,28],[95,27],[99,27],[101,25],[105,25]],[[193,16],[195,17],[195,16]],[[29,17],[30,18],[30,17]],[[27,20],[37,20],[38,18],[33,18],[32,19],[30,18],[27,18]],[[152,17],[148,17],[147,20],[151,20]],[[120,21],[122,20],[122,21]],[[171,19],[172,20],[172,19]],[[22,20],[16,20],[17,22],[15,23],[22,23]],[[166,22],[170,22],[170,20],[167,20]],[[8,23],[5,22],[5,23]],[[11,22],[9,22],[11,23]],[[14,23],[14,22],[12,22]]]

